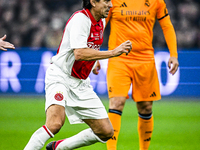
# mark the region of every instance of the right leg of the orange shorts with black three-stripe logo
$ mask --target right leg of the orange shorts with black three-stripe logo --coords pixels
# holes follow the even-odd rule
[[[132,98],[136,102],[161,98],[155,63],[138,63],[133,68]]]

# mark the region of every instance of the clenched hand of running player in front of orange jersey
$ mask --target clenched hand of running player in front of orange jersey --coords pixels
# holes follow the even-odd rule
[[[122,43],[117,48],[115,48],[113,50],[113,55],[120,56],[123,53],[126,53],[126,55],[128,55],[128,53],[131,51],[131,49],[132,49],[132,43],[131,43],[131,41],[128,40],[128,41]]]

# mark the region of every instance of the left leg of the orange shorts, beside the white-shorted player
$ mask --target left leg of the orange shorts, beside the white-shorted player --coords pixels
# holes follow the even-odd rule
[[[109,60],[107,89],[109,98],[126,97],[131,85],[131,72],[125,62]]]

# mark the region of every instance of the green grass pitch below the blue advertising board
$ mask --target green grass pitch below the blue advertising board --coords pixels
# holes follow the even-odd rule
[[[108,100],[103,103],[108,108]],[[35,130],[44,125],[44,98],[0,97],[0,149],[22,150]],[[153,107],[154,132],[149,150],[200,149],[200,99],[163,99]],[[85,124],[65,125],[53,139],[64,139],[87,128]],[[45,146],[46,146],[45,144]],[[80,150],[106,150],[96,143]],[[122,115],[118,150],[138,150],[137,110],[127,100]],[[42,150],[45,150],[43,148]]]

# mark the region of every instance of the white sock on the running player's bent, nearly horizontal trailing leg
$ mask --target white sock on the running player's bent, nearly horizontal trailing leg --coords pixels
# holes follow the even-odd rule
[[[105,143],[106,141],[102,141],[90,128],[88,128],[62,141],[60,144],[58,144],[56,150],[72,150],[75,148],[88,146],[96,142]]]

